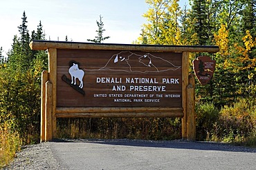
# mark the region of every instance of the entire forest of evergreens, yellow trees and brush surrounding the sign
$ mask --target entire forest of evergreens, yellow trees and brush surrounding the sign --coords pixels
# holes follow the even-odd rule
[[[217,62],[208,85],[196,81],[196,140],[256,146],[256,0],[145,0],[136,44],[217,45]],[[102,43],[102,17],[95,43]],[[47,40],[41,21],[28,30],[24,12],[18,35],[10,37],[8,58],[0,48],[0,167],[21,145],[40,140],[41,74],[48,70],[47,51],[30,50],[32,40]],[[67,41],[67,36],[66,36]],[[75,41],[75,40],[74,40]],[[1,47],[1,44],[0,44]],[[58,138],[181,138],[180,118],[59,118]],[[8,147],[12,146],[12,147]],[[6,152],[4,152],[6,151]]]

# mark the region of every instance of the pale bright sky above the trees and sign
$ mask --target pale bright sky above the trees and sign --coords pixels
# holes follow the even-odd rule
[[[180,6],[189,0],[180,0]],[[130,44],[140,36],[143,14],[149,5],[145,0],[1,0],[0,47],[3,55],[10,50],[12,39],[26,12],[29,33],[37,30],[42,22],[46,40],[87,42],[97,36],[100,15],[104,23],[103,36],[110,36],[104,43]]]

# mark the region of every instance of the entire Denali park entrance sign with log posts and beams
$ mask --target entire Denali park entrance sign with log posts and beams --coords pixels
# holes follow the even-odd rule
[[[195,138],[194,76],[189,52],[217,46],[123,45],[32,41],[48,50],[42,73],[41,141],[56,136],[56,118],[180,117]]]

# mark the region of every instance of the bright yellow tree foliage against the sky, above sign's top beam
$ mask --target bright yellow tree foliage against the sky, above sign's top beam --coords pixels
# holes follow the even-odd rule
[[[143,33],[136,43],[181,45],[181,8],[178,2],[179,0],[146,0],[149,9],[143,17],[147,19],[147,23],[143,24]]]

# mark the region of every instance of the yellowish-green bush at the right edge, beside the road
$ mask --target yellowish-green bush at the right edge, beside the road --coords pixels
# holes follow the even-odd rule
[[[221,109],[218,130],[214,133],[223,142],[244,142],[249,138],[253,142],[255,128],[255,99],[241,98],[233,106]]]

